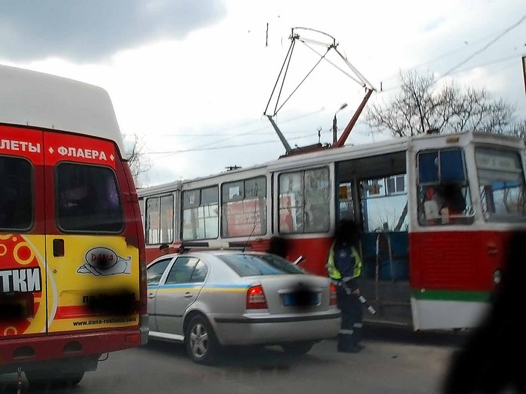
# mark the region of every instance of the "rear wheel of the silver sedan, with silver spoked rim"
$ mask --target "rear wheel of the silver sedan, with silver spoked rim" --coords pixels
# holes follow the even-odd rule
[[[184,346],[190,358],[198,364],[211,364],[220,353],[220,343],[215,332],[204,316],[190,320],[184,333]]]

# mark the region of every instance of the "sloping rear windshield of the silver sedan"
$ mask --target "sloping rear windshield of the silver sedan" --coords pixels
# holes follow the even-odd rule
[[[239,276],[304,273],[285,259],[271,254],[222,254],[217,256]]]

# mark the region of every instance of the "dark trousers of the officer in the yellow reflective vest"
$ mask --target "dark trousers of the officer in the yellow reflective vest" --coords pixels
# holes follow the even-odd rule
[[[338,348],[353,347],[362,339],[362,304],[354,294],[347,294],[343,286],[337,287],[338,308],[342,311],[342,327],[338,334]]]

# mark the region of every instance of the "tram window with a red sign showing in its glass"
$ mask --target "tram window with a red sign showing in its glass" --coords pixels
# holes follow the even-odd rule
[[[265,177],[222,184],[222,236],[261,236],[267,232]]]

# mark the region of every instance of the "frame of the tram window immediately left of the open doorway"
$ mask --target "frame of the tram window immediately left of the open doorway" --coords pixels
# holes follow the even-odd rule
[[[284,235],[293,235],[293,234],[319,234],[319,233],[328,233],[330,231],[330,219],[327,220],[327,226],[325,229],[317,230],[317,231],[305,231],[305,173],[309,171],[316,171],[316,170],[323,170],[325,171],[326,178],[327,179],[327,206],[326,206],[326,216],[330,218],[330,193],[331,193],[331,179],[330,179],[330,170],[328,166],[323,167],[315,167],[315,168],[306,168],[304,170],[296,170],[296,171],[287,171],[287,172],[281,172],[278,175],[278,232],[280,234]],[[281,177],[283,175],[291,175],[291,174],[301,174],[301,189],[302,189],[302,198],[301,198],[301,205],[295,205],[294,207],[282,207],[281,206]],[[281,224],[281,211],[283,210],[292,210],[292,209],[301,209],[302,210],[302,226],[300,231],[283,231],[282,224]]]

